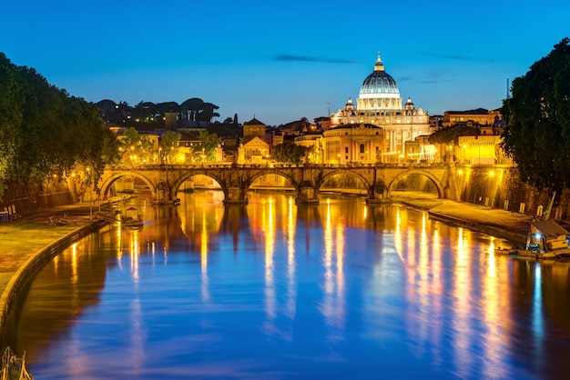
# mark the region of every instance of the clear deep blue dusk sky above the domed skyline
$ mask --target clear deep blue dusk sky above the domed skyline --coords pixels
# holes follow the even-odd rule
[[[545,5],[545,6],[541,6]],[[266,125],[358,98],[378,54],[429,115],[503,104],[570,37],[567,0],[1,0],[0,52],[89,102],[218,105]]]

